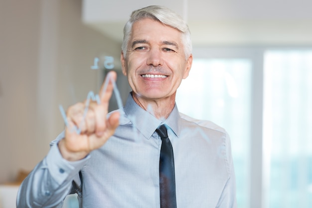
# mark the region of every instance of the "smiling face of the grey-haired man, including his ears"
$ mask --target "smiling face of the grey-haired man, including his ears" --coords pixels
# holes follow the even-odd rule
[[[143,99],[175,98],[182,79],[188,76],[192,55],[185,59],[181,32],[156,20],[133,24],[123,73],[136,95]]]

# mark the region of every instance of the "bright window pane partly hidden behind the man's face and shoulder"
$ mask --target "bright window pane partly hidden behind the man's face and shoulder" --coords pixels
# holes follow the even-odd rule
[[[229,133],[239,208],[249,207],[251,70],[249,59],[194,59],[176,95],[180,112]]]

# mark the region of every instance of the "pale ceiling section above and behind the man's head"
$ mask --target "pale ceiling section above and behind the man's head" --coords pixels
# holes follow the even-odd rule
[[[82,20],[121,42],[131,12],[151,4],[179,13],[194,46],[312,45],[311,0],[83,0]]]

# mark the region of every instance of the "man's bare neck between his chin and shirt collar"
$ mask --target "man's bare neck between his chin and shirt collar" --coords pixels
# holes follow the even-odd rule
[[[146,99],[132,92],[132,97],[141,108],[153,113],[157,119],[168,118],[175,104],[175,93],[166,98]]]

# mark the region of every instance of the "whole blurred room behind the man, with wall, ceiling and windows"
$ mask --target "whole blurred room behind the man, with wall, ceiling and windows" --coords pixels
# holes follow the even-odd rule
[[[238,208],[311,208],[310,0],[0,0],[0,208],[64,129],[59,105],[97,92],[108,70],[127,98],[123,26],[151,4],[188,22],[194,62],[176,102],[228,131]]]

